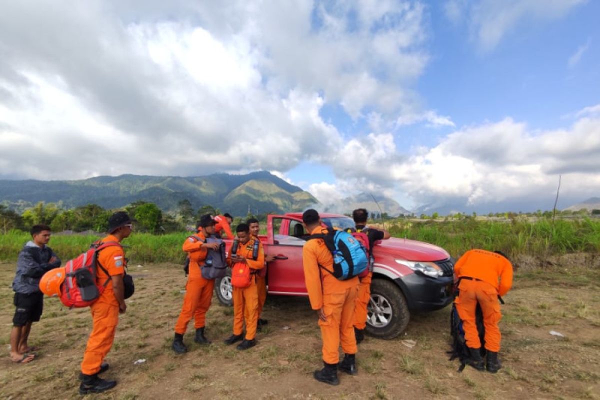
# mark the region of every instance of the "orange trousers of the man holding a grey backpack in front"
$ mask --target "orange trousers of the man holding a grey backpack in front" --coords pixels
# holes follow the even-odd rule
[[[194,317],[194,328],[202,328],[206,324],[206,311],[211,306],[214,279],[204,279],[202,276],[188,278],[185,285],[184,304],[175,323],[175,333],[184,335],[187,325]]]

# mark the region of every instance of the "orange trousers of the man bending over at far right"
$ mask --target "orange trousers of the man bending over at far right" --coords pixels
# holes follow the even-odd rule
[[[475,308],[481,306],[484,316],[485,348],[489,351],[500,351],[500,328],[498,323],[502,318],[498,292],[487,282],[461,279],[458,285],[459,294],[454,300],[458,316],[463,321],[464,338],[467,347],[480,348],[479,333],[475,324]]]

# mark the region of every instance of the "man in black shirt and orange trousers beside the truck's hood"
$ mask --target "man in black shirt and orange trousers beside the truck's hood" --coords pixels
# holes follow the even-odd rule
[[[357,232],[363,232],[369,240],[369,256],[373,255],[373,246],[377,240],[389,239],[388,231],[379,230],[367,227],[367,209],[358,208],[352,211],[352,219],[356,225]],[[358,296],[354,306],[354,335],[356,336],[356,344],[362,342],[365,338],[365,327],[367,327],[367,305],[371,299],[371,279],[373,272],[369,272],[367,276],[361,278],[361,283],[358,285]]]

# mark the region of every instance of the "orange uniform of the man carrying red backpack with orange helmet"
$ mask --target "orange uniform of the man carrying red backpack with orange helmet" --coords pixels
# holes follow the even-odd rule
[[[109,234],[101,240],[102,242],[119,242]],[[98,253],[98,262],[107,270],[110,276],[124,275],[125,254],[121,246],[110,246]],[[98,268],[97,281],[104,284],[110,276]],[[88,345],[83,353],[81,372],[86,375],[94,375],[100,371],[100,365],[109,353],[115,340],[116,326],[119,324],[119,302],[116,300],[112,282],[104,287],[104,291],[98,300],[90,306],[92,312],[92,333],[89,335]]]

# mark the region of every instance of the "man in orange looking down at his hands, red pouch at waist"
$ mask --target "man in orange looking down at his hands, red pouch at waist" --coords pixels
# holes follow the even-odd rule
[[[262,243],[257,237],[250,234],[248,224],[239,224],[236,227],[238,234],[238,250],[235,254],[229,254],[232,268],[236,264],[247,264],[250,267],[250,286],[239,288],[233,286],[233,335],[225,339],[226,344],[233,344],[242,340],[244,320],[246,323],[246,336],[238,344],[238,350],[247,350],[256,346],[256,327],[259,319],[259,294],[256,287],[256,275],[260,269],[265,267],[265,252]],[[257,246],[257,254],[254,257],[254,248]],[[230,251],[233,252],[233,251]]]

